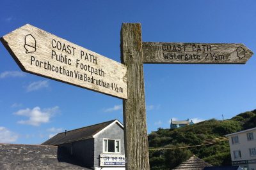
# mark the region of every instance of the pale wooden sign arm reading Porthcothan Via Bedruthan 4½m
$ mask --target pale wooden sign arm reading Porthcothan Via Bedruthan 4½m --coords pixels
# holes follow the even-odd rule
[[[1,38],[22,71],[127,99],[127,68],[26,24]]]

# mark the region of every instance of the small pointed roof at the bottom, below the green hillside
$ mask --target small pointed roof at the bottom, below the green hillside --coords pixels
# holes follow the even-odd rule
[[[175,170],[183,170],[183,169],[189,169],[189,170],[202,170],[204,167],[212,166],[211,164],[204,162],[204,160],[199,159],[195,155],[193,157],[190,157],[185,162],[182,162],[179,166],[175,167]]]

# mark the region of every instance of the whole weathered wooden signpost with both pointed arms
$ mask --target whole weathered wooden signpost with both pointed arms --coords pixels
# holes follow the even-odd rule
[[[140,24],[122,25],[123,64],[29,24],[1,41],[22,71],[124,99],[127,170],[150,169],[143,63],[245,64],[253,55],[243,44],[142,42]]]

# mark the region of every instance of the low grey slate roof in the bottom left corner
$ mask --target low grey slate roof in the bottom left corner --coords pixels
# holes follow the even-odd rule
[[[0,144],[0,169],[88,169],[59,146]]]

